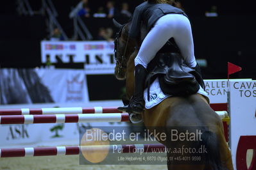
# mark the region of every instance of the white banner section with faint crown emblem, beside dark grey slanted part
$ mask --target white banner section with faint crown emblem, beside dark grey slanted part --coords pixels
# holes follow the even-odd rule
[[[56,103],[87,102],[87,85],[83,70],[36,69]]]

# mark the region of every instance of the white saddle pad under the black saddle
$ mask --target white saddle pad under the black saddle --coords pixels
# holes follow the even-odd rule
[[[203,90],[203,88],[201,88],[201,86],[200,89],[198,90],[198,93],[208,98],[207,93]],[[166,95],[162,92],[158,78],[155,79],[155,81],[151,84],[149,94],[150,98],[148,101],[148,88],[146,88],[144,90],[144,100],[146,109],[151,109],[155,105],[160,104],[160,102],[162,102],[167,97],[171,97],[171,95]]]

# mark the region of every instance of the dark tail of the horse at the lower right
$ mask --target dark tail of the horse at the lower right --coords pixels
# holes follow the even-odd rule
[[[207,169],[226,170],[221,164],[221,155],[219,151],[219,143],[216,134],[206,130],[201,135],[201,144],[205,146],[206,151],[203,153],[205,165]]]

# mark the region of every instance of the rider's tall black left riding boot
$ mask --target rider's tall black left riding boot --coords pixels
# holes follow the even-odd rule
[[[144,111],[144,84],[146,79],[146,68],[142,65],[135,66],[134,93],[130,104],[118,107],[119,111],[141,114]]]

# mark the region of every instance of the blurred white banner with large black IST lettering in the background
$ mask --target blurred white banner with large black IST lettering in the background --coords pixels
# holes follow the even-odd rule
[[[89,73],[114,73],[114,42],[41,42],[42,63],[85,63]]]

